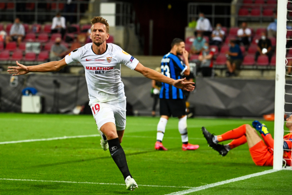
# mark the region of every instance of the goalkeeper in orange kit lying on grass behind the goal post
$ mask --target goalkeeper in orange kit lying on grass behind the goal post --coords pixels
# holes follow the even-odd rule
[[[222,156],[225,156],[229,150],[243,145],[247,142],[249,152],[251,153],[252,160],[259,166],[272,166],[274,157],[274,139],[269,133],[265,124],[259,121],[253,121],[251,125],[241,125],[236,129],[232,129],[221,135],[213,135],[202,127],[204,137],[206,138],[210,147],[218,151]],[[291,146],[292,146],[292,115],[286,119],[286,127],[290,133],[284,136],[284,154],[283,160],[285,165],[292,166]],[[263,140],[259,137],[259,131]],[[232,140],[229,144],[220,145],[221,141]]]

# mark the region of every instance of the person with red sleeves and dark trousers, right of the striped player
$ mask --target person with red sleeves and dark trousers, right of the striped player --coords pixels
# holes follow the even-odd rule
[[[199,55],[199,61],[201,62],[201,72],[203,77],[211,77],[213,70],[213,56],[214,52],[212,52],[209,48],[209,44],[206,42],[203,46],[203,50]]]

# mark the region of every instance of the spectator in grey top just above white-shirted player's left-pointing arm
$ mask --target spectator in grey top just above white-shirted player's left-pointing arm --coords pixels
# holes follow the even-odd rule
[[[68,48],[61,45],[61,38],[58,37],[55,39],[55,44],[51,47],[50,61],[59,61],[68,53]]]

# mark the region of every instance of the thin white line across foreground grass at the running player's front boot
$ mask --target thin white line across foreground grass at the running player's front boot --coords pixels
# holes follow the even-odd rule
[[[37,182],[57,182],[57,183],[73,183],[73,184],[99,184],[99,185],[125,185],[116,183],[95,183],[95,182],[77,182],[77,181],[46,181],[46,180],[33,180],[33,179],[6,179],[0,178],[0,180],[10,180],[10,181],[37,181]],[[188,186],[167,186],[167,185],[139,185],[146,187],[164,187],[164,188],[193,188]]]

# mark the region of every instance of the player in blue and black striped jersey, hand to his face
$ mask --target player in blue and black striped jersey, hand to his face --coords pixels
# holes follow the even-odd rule
[[[185,64],[178,55],[185,58]],[[185,50],[185,42],[180,38],[175,38],[171,42],[171,50],[163,56],[161,60],[161,73],[173,79],[181,79],[190,74],[190,66],[188,61],[189,53]],[[185,96],[181,89],[162,83],[160,90],[160,120],[157,125],[157,141],[155,149],[167,150],[162,145],[162,139],[165,133],[165,127],[169,117],[178,117],[178,130],[181,134],[182,149],[195,150],[199,145],[189,143],[187,130],[187,116]]]

